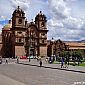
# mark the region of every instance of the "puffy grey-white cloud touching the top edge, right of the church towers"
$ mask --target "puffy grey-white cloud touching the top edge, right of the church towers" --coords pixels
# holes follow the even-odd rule
[[[63,0],[49,0],[49,8],[52,15],[57,19],[64,19],[68,17],[70,8],[66,7],[66,3]]]

